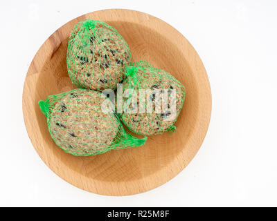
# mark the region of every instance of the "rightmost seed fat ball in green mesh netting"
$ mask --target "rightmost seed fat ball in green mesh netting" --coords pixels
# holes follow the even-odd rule
[[[127,67],[125,75],[122,92],[117,91],[117,111],[127,128],[139,135],[175,131],[185,87],[170,73],[146,61]],[[123,93],[123,99],[119,99],[119,93]]]

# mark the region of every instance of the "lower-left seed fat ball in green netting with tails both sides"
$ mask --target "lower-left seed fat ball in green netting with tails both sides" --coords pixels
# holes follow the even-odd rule
[[[102,111],[105,101],[110,102],[95,90],[75,89],[48,96],[39,106],[51,137],[66,153],[96,155],[145,144],[147,137],[139,139],[125,132],[116,113]]]

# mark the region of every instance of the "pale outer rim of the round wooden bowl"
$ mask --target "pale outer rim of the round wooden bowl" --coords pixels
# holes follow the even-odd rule
[[[74,186],[77,186],[80,189],[84,189],[85,191],[89,191],[92,193],[98,193],[98,194],[102,194],[102,195],[133,195],[133,194],[149,191],[150,189],[154,189],[157,186],[161,186],[161,184],[168,182],[173,177],[175,177],[179,172],[181,172],[189,164],[189,162],[191,160],[193,160],[193,157],[196,155],[197,151],[199,150],[200,146],[202,145],[202,142],[204,141],[204,137],[206,136],[206,132],[208,130],[208,125],[209,125],[209,122],[211,119],[211,88],[210,88],[208,76],[206,74],[204,65],[202,64],[202,61],[201,61],[199,55],[197,54],[197,52],[195,51],[193,46],[188,42],[188,40],[183,35],[181,35],[181,33],[179,31],[177,31],[175,28],[170,26],[165,21],[162,21],[161,19],[158,19],[157,17],[153,17],[152,15],[148,15],[144,12],[139,12],[136,10],[126,10],[126,9],[107,9],[107,10],[98,10],[95,12],[89,12],[87,14],[81,15],[80,17],[77,17],[77,18],[72,19],[71,21],[65,23],[62,27],[58,28],[55,32],[57,32],[58,30],[62,30],[68,23],[71,23],[73,21],[77,22],[77,21],[80,21],[85,18],[91,18],[95,15],[109,17],[109,21],[120,21],[120,20],[118,20],[117,17],[113,17],[111,15],[112,14],[111,12],[118,12],[118,13],[125,12],[126,14],[131,15],[128,17],[127,22],[134,22],[134,23],[137,23],[136,21],[134,21],[134,19],[133,19],[134,17],[145,17],[146,16],[146,17],[148,17],[149,22],[143,23],[143,25],[147,26],[148,28],[154,28],[154,26],[157,25],[157,23],[162,24],[163,28],[165,29],[162,33],[163,36],[170,39],[170,36],[175,35],[175,37],[177,39],[183,41],[184,45],[186,45],[186,48],[184,48],[184,50],[190,50],[190,53],[192,53],[192,55],[194,56],[195,64],[197,64],[197,75],[198,75],[199,79],[202,79],[202,82],[201,82],[201,87],[199,86],[199,88],[197,88],[199,90],[199,95],[200,95],[200,97],[199,97],[199,100],[200,100],[199,101],[199,113],[197,115],[197,122],[196,122],[196,124],[195,124],[196,126],[192,132],[193,134],[190,135],[190,140],[188,141],[188,144],[187,144],[188,148],[190,148],[191,154],[188,156],[187,151],[185,151],[186,148],[183,148],[183,150],[179,153],[179,155],[177,157],[175,157],[175,160],[172,160],[167,166],[165,166],[163,169],[159,170],[157,173],[142,177],[140,180],[134,180],[134,181],[131,180],[129,182],[124,182],[124,186],[122,186],[122,184],[120,182],[117,182],[117,183],[114,183],[111,185],[109,182],[105,182],[105,181],[101,181],[101,180],[93,180],[94,185],[93,185],[93,187],[91,187],[91,186],[86,185],[87,182],[91,182],[91,178],[69,169],[69,167],[66,166],[65,164],[63,164],[62,162],[60,164],[60,169],[57,169],[55,166],[53,166],[53,164],[51,162],[53,159],[51,157],[46,158],[46,156],[42,154],[43,151],[40,151],[40,149],[43,147],[38,146],[36,144],[36,137],[33,137],[33,135],[31,135],[31,133],[29,133],[31,130],[30,124],[32,122],[32,119],[29,119],[28,117],[26,117],[26,111],[28,109],[27,108],[28,103],[24,103],[24,101],[26,100],[26,88],[28,87],[28,85],[26,84],[26,79],[24,82],[24,90],[23,90],[23,95],[22,95],[22,104],[23,104],[22,108],[23,108],[23,113],[24,113],[24,123],[26,125],[26,130],[27,130],[28,136],[30,137],[30,141],[32,142],[33,146],[35,147],[35,150],[39,154],[39,157],[42,158],[44,163],[54,173],[56,173],[58,176],[60,176],[63,180],[66,180],[66,182],[69,182],[70,184],[73,184]],[[54,35],[55,32],[52,35]],[[48,39],[46,39],[46,41]],[[29,75],[39,73],[39,71],[43,67],[44,63],[42,61],[36,62],[36,64],[34,64],[34,61],[37,60],[37,57],[40,57],[40,56],[48,57],[51,55],[51,54],[49,54],[49,52],[47,50],[44,50],[45,46],[46,46],[46,41],[44,42],[44,44],[42,44],[42,46],[37,51],[35,57],[33,58],[33,61],[30,64],[30,67],[28,69],[26,78]],[[172,43],[177,44],[177,43],[175,43],[175,41],[172,41]],[[48,55],[45,55],[45,52],[48,52]],[[53,54],[53,52],[51,52],[51,53]],[[31,68],[31,67],[33,67],[33,68]],[[36,71],[34,71],[34,70],[36,70]],[[196,70],[193,70],[193,71],[196,72]],[[200,83],[199,83],[199,85],[200,85]],[[201,95],[204,95],[205,99],[202,99]],[[186,105],[186,102],[184,105]],[[186,160],[186,162],[183,162],[182,164],[180,164],[179,160],[177,160],[179,158],[181,158],[181,159],[186,158],[187,160]],[[176,166],[176,164],[178,166]],[[170,173],[170,175],[163,178],[163,173]],[[82,180],[82,182],[78,182],[78,184],[76,184],[72,177],[78,177],[80,180]],[[150,180],[151,181],[156,180],[156,181],[154,183],[152,182],[150,184]],[[134,185],[134,182],[136,182],[136,185]],[[82,184],[80,184],[80,183],[82,183]],[[125,186],[127,184],[129,184],[131,186],[139,186],[139,188],[126,189]],[[107,191],[102,191],[102,189],[100,191],[98,189],[98,186],[102,186],[102,185],[107,187]],[[124,191],[120,190],[121,187],[124,188]]]

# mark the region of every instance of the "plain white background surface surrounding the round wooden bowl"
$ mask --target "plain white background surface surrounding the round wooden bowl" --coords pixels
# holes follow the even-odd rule
[[[44,41],[84,13],[127,8],[177,28],[199,53],[213,111],[202,148],[166,184],[109,197],[66,183],[28,138],[21,96]],[[277,1],[1,1],[0,206],[277,206]]]

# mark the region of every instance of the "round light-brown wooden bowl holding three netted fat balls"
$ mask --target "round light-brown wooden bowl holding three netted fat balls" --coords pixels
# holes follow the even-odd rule
[[[129,44],[133,61],[149,61],[186,86],[175,133],[150,136],[145,146],[90,157],[64,153],[53,142],[38,102],[75,88],[66,70],[67,41],[73,26],[87,18],[114,26]],[[62,179],[93,193],[131,195],[164,184],[193,159],[208,129],[211,89],[197,52],[175,28],[143,12],[101,10],[69,21],[39,48],[24,84],[23,113],[37,153]]]

